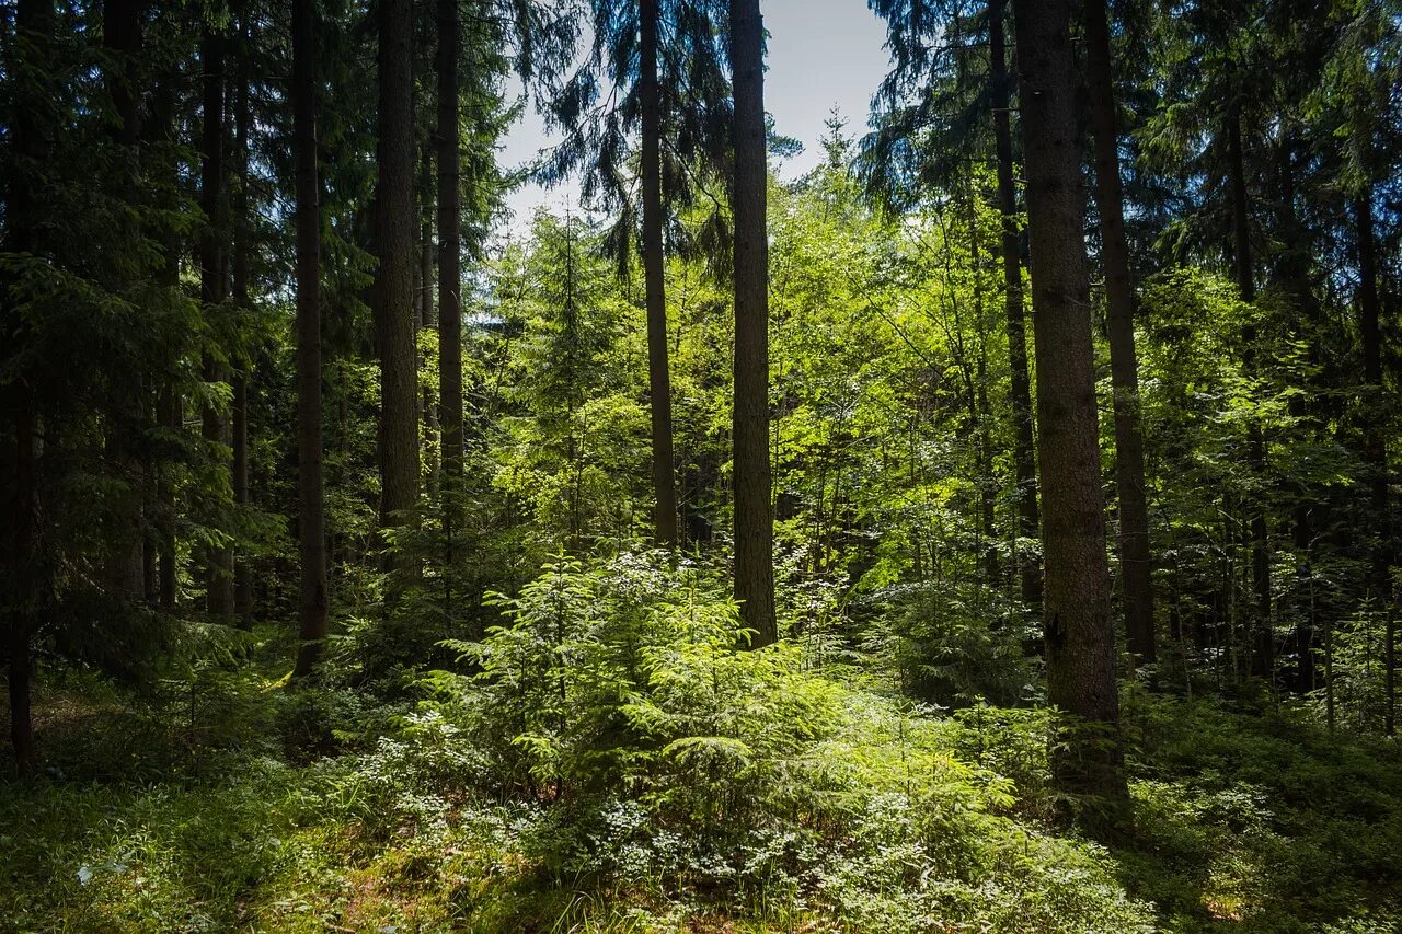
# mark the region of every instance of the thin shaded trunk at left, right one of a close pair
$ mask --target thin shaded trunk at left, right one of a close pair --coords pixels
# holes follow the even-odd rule
[[[236,67],[234,90],[234,158],[238,160],[238,185],[234,188],[234,304],[240,314],[252,311],[248,302],[248,262],[252,217],[248,213],[248,126],[252,114],[248,107],[248,32],[244,27],[243,43]],[[234,503],[248,506],[248,373],[251,360],[241,359],[234,374],[233,446],[234,446]],[[254,623],[252,571],[245,555],[234,555],[234,614],[240,625]]]

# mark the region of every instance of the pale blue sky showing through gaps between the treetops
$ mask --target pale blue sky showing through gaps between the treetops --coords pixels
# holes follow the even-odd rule
[[[817,164],[823,121],[834,105],[850,121],[850,133],[866,126],[872,94],[887,69],[882,45],[886,31],[866,8],[866,0],[761,0],[760,8],[770,32],[764,109],[774,115],[778,132],[805,146],[801,156],[781,167],[784,175],[792,177]],[[502,163],[530,161],[552,142],[540,116],[527,112],[506,135]],[[508,203],[516,210],[516,224],[522,224],[537,205],[564,210],[575,198],[572,185],[551,191],[530,185],[516,191]]]

